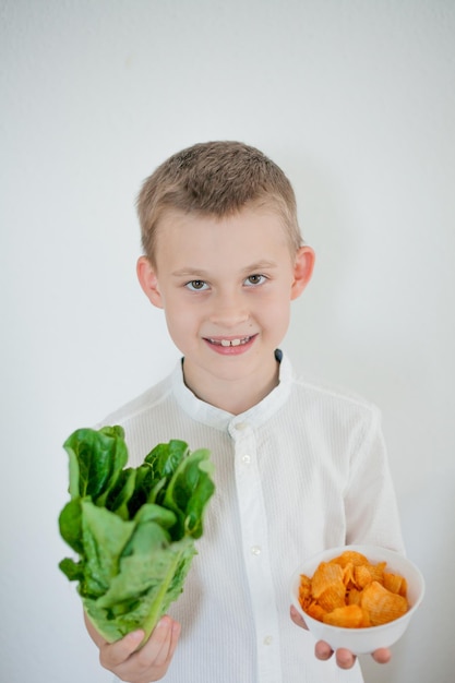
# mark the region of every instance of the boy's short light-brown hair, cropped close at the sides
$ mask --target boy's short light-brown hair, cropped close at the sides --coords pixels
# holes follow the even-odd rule
[[[154,263],[157,226],[166,211],[221,218],[246,206],[275,211],[290,249],[301,247],[296,195],[274,161],[240,142],[216,141],[187,147],[158,166],[142,184],[136,207],[144,253]]]

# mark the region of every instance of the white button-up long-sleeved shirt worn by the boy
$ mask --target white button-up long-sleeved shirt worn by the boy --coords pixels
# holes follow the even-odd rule
[[[314,657],[289,618],[289,583],[306,559],[345,543],[403,550],[380,414],[366,400],[307,383],[283,357],[278,386],[234,416],[197,399],[181,366],[110,415],[131,465],[157,444],[209,448],[216,491],[183,594],[166,683],[359,683]]]

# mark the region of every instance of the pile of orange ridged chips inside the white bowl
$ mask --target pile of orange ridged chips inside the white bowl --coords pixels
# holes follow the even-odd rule
[[[404,576],[386,571],[352,550],[321,562],[312,578],[300,576],[302,610],[318,621],[344,628],[366,628],[403,616],[409,603]]]

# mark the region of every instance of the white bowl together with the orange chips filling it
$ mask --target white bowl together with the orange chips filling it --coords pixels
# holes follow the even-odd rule
[[[404,555],[373,546],[326,550],[291,582],[292,604],[318,640],[356,655],[390,647],[406,631],[424,592]]]

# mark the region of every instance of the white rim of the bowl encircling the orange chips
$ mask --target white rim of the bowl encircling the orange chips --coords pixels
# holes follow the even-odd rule
[[[371,550],[371,552],[373,553],[378,553],[378,552],[384,552],[386,555],[388,555],[390,558],[392,558],[392,562],[393,562],[393,558],[399,558],[400,561],[405,561],[406,564],[409,566],[409,568],[414,572],[416,578],[417,578],[417,583],[419,584],[419,592],[418,596],[416,598],[416,600],[412,602],[412,604],[409,607],[408,611],[405,612],[405,614],[402,614],[402,616],[398,616],[397,619],[394,619],[385,624],[379,624],[378,626],[363,626],[360,628],[349,628],[347,626],[334,626],[333,624],[326,624],[324,622],[319,621],[318,619],[314,619],[313,616],[310,616],[310,614],[307,614],[307,612],[303,610],[303,608],[300,604],[299,598],[296,595],[296,588],[298,587],[299,583],[297,582],[298,577],[303,574],[302,572],[302,567],[303,565],[308,565],[308,564],[315,564],[314,570],[316,568],[316,566],[319,565],[320,562],[325,562],[325,560],[319,560],[319,558],[324,558],[327,556],[327,553],[333,553],[333,558],[336,558],[337,555],[342,554],[343,552],[345,552],[346,550],[354,550],[357,552],[361,552],[363,555],[368,558],[368,549]],[[332,559],[333,559],[332,558]],[[327,561],[330,560],[330,558],[327,556]],[[388,560],[386,556],[384,556],[384,561],[387,562],[388,564]],[[372,560],[372,562],[381,562],[381,560]],[[313,570],[313,572],[314,572]],[[405,577],[407,578],[407,577]],[[338,633],[340,631],[343,632],[349,632],[349,633],[372,633],[372,631],[374,631],[374,633],[379,633],[381,631],[386,631],[391,627],[391,625],[398,625],[399,623],[404,622],[404,621],[409,621],[410,618],[412,616],[414,612],[418,609],[418,607],[420,606],[420,603],[423,600],[424,594],[426,594],[426,583],[424,583],[424,578],[422,573],[420,572],[419,567],[407,558],[407,555],[405,555],[404,553],[400,553],[396,550],[391,550],[390,548],[383,548],[382,546],[371,546],[371,544],[348,544],[348,546],[339,546],[336,548],[326,548],[325,550],[322,550],[313,555],[311,555],[310,558],[308,558],[308,560],[306,560],[304,562],[302,562],[292,573],[292,577],[291,577],[291,597],[292,597],[292,604],[294,607],[299,611],[299,613],[303,616],[303,619],[307,621],[309,620],[310,623],[313,623],[315,626],[320,625],[320,626],[324,626],[324,628],[327,628],[327,633]],[[318,626],[319,627],[319,626]]]

